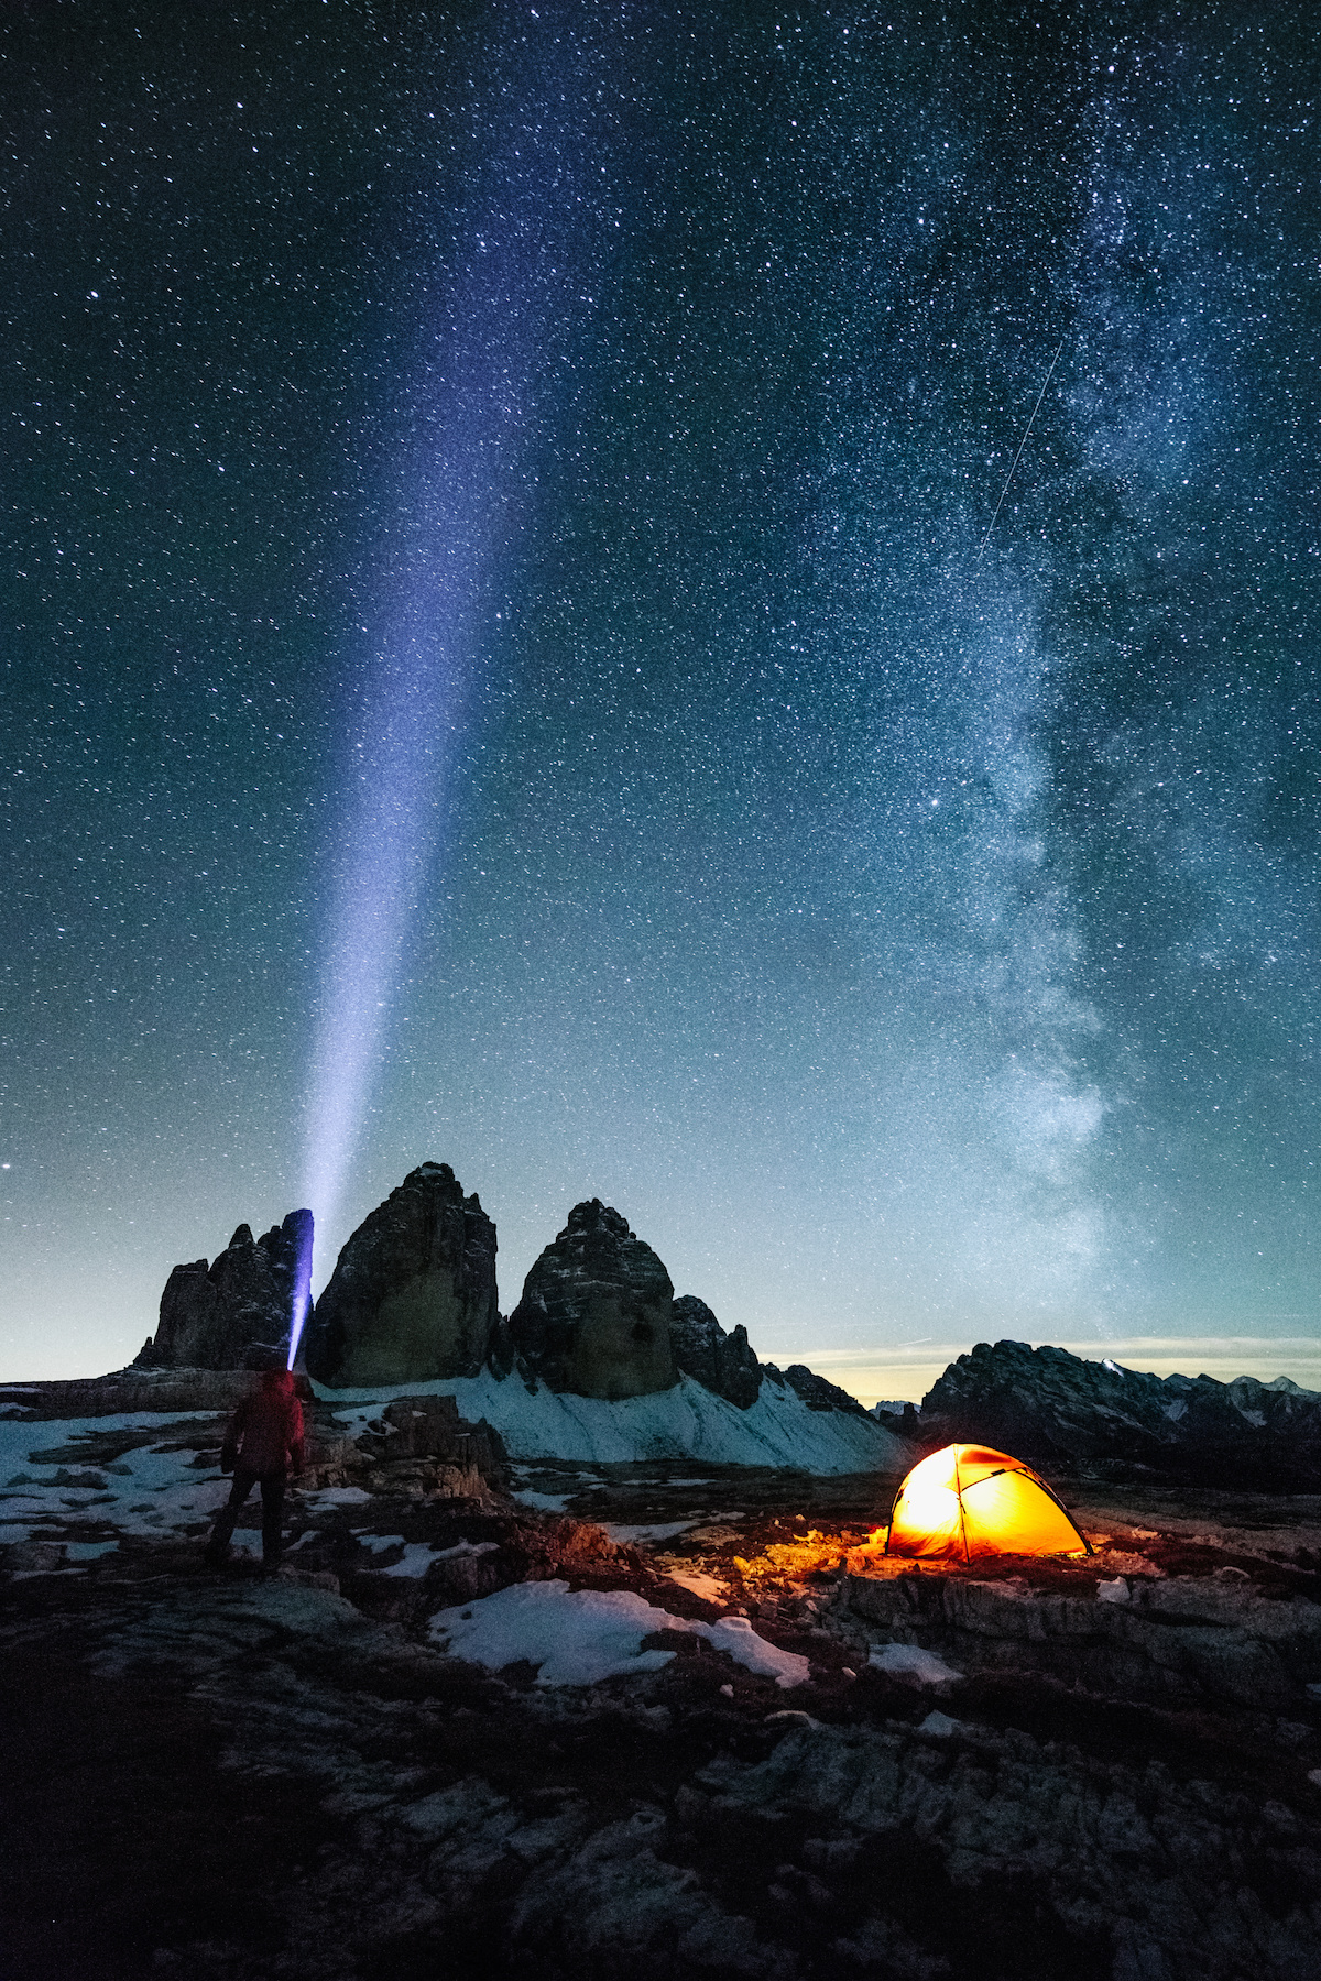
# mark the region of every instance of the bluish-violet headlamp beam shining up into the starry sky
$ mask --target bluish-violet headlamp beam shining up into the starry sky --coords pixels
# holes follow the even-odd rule
[[[349,725],[311,1050],[305,1200],[323,1234],[337,1224],[386,1056],[408,929],[495,624],[493,586],[527,517],[543,378],[586,301],[582,263],[600,218],[600,190],[588,190],[594,95],[562,73],[580,36],[574,44],[557,12],[507,16],[485,109],[495,139],[469,172],[436,321],[414,365],[408,418],[418,438],[398,464],[414,493],[376,584],[366,679]],[[600,151],[590,158],[596,188]],[[291,1341],[291,1357],[295,1349]]]

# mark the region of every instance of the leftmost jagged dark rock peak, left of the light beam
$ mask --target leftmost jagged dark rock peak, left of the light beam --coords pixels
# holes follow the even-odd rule
[[[141,1369],[244,1369],[265,1347],[287,1349],[295,1294],[311,1280],[313,1214],[291,1210],[261,1238],[240,1224],[226,1250],[174,1266],[160,1296],[160,1325],[137,1357]]]

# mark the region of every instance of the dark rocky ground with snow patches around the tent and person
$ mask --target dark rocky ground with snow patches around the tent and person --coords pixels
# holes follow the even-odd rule
[[[273,1579],[200,1561],[214,1414],[6,1426],[8,1973],[1321,1973],[1315,1498],[1056,1482],[1091,1559],[917,1573],[897,1480],[418,1424]],[[533,1585],[612,1676],[454,1654]]]

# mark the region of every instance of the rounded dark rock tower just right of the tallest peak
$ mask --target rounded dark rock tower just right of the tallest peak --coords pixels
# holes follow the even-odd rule
[[[509,1315],[509,1339],[549,1389],[648,1397],[677,1381],[673,1286],[650,1244],[598,1197],[574,1204]]]

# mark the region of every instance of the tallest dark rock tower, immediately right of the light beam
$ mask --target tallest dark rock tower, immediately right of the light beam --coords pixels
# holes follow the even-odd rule
[[[471,1377],[497,1317],[495,1224],[448,1163],[422,1163],[339,1254],[307,1371],[339,1389]]]

